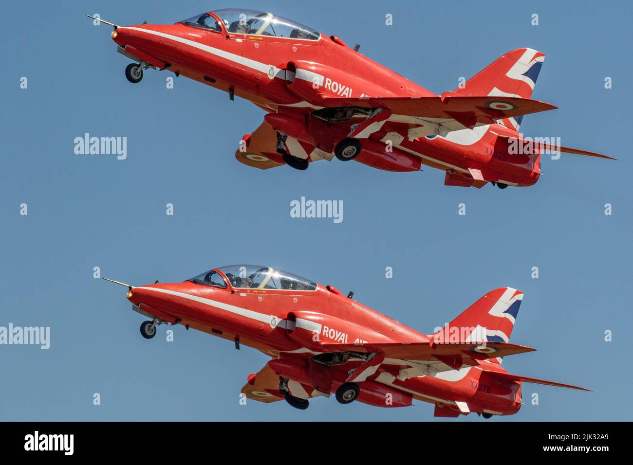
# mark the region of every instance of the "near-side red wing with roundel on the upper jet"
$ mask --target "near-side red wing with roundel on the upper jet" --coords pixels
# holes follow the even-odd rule
[[[361,106],[365,108],[389,108],[392,120],[420,123],[428,120],[456,130],[474,128],[477,125],[491,124],[503,118],[529,115],[547,111],[556,107],[532,99],[520,97],[327,97],[323,99],[326,107]]]

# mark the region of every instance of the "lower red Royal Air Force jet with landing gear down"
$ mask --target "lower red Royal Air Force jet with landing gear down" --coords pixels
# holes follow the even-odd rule
[[[352,292],[268,266],[223,266],[182,283],[113,282],[127,286],[132,309],[150,318],[144,338],[170,323],[271,357],[242,388],[260,402],[285,399],[306,409],[308,399],[334,393],[341,404],[406,407],[416,399],[435,404],[435,416],[491,418],[520,409],[523,382],[587,390],[503,369],[503,357],[535,350],[508,342],[523,299],[511,287],[488,292],[425,335],[354,301]]]

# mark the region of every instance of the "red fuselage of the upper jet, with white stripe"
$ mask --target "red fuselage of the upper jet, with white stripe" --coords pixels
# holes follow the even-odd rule
[[[184,23],[145,24],[119,27],[113,32],[113,39],[128,54],[156,68],[248,99],[268,113],[307,116],[322,108],[318,99],[312,98],[311,84],[318,86],[320,97],[436,95],[350,49],[335,36],[318,34],[318,38],[308,40],[218,29]],[[351,124],[360,121],[354,116],[351,120],[330,122],[330,128],[340,140],[349,133]],[[368,144],[357,161],[389,171],[417,171],[425,164],[446,171],[446,183],[451,185],[469,185],[463,182],[473,181],[473,169],[492,171],[498,175],[498,182],[506,185],[532,185],[539,177],[538,154],[509,154],[508,145],[499,140],[499,135],[520,137],[505,126],[491,124],[456,130],[446,137],[402,137],[415,128],[399,121],[398,115],[392,116],[383,130],[370,137],[377,149]],[[394,151],[382,150],[387,140]],[[304,142],[319,146],[313,138]]]

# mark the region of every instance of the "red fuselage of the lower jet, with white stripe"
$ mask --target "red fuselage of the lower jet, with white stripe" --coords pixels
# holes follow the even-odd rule
[[[270,285],[236,288],[232,285],[235,283],[232,276],[220,270],[215,272],[225,280],[225,288],[191,280],[157,283],[133,288],[128,299],[136,311],[146,316],[253,347],[277,359],[278,363],[287,361],[300,366],[313,357],[320,360],[322,352],[318,350],[318,342],[429,342],[429,336],[349,299],[331,286],[313,283],[311,290],[271,288]],[[299,328],[306,330],[303,336]],[[334,381],[332,392],[348,372],[360,364],[361,361],[353,357],[345,363],[324,362]],[[385,360],[364,383],[368,388],[379,385],[398,392],[404,396],[403,406],[408,398],[409,404],[411,399],[425,400],[446,406],[444,411],[451,413],[455,412],[456,402],[477,404],[490,414],[513,414],[520,407],[521,383],[503,383],[492,380],[489,375],[489,371],[504,371],[498,363],[480,361],[477,366],[446,371],[420,364],[418,371],[408,377],[402,376],[403,369],[411,367]],[[300,376],[296,381],[304,382]],[[372,389],[382,395],[380,388]],[[380,396],[359,400],[385,407],[375,398],[380,399]],[[446,416],[456,416],[456,413]]]

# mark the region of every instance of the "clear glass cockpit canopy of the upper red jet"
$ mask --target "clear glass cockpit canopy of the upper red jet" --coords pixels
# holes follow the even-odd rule
[[[230,34],[267,35],[285,39],[318,40],[321,35],[311,27],[296,23],[281,16],[254,9],[216,9],[218,16]],[[210,13],[193,16],[180,23],[202,29],[222,32],[222,27]]]

